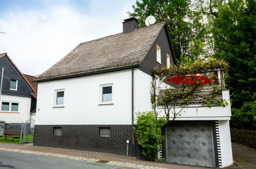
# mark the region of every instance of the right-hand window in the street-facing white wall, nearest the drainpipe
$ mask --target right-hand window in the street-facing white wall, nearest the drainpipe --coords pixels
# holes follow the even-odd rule
[[[101,85],[100,86],[100,102],[101,103],[112,103],[112,88],[113,84]]]

